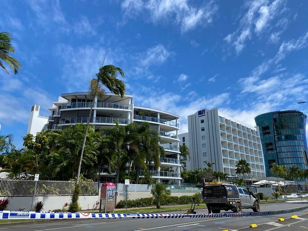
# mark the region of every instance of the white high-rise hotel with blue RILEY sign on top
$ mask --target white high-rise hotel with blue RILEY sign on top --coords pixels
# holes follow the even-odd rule
[[[205,168],[207,161],[215,163],[212,166],[214,171],[241,176],[235,173],[235,165],[244,159],[252,170],[246,175],[265,177],[259,129],[223,115],[218,108],[188,115],[188,133],[180,134],[182,144],[181,139],[190,150],[187,170]]]

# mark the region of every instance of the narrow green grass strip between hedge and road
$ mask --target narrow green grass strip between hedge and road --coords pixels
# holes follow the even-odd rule
[[[115,213],[161,213],[161,212],[172,212],[172,211],[180,211],[180,210],[188,210],[190,209],[191,205],[183,205],[183,206],[177,206],[177,207],[161,207],[160,209],[156,208],[144,208],[144,209],[127,209],[127,212],[125,209],[123,210],[117,210]],[[206,205],[199,205],[195,207],[195,209],[206,209]]]

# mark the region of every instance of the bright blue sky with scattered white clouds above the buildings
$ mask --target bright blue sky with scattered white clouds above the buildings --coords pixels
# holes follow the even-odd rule
[[[135,105],[180,115],[308,113],[306,1],[2,1],[20,74],[0,70],[0,124],[21,146],[33,104],[47,116],[61,93],[87,91],[103,57],[125,71]]]

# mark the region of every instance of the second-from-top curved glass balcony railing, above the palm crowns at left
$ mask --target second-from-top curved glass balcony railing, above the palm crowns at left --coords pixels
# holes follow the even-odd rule
[[[117,121],[119,124],[130,123],[130,119],[126,118],[90,117],[90,123],[95,123],[95,124],[115,124],[114,120]],[[88,117],[68,117],[68,118],[61,118],[59,124],[81,124],[81,123],[87,123],[87,121]]]

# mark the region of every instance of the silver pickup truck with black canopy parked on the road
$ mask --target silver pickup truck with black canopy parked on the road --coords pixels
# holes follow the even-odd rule
[[[245,188],[237,187],[235,183],[210,182],[195,187],[203,188],[202,198],[209,213],[220,213],[221,210],[240,213],[242,208],[260,212],[260,200]]]

